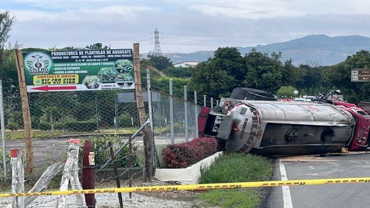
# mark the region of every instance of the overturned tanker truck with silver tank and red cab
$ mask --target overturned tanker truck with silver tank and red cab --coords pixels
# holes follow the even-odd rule
[[[214,109],[203,107],[198,117],[199,137],[215,137],[225,150],[260,155],[367,150],[369,126],[369,114],[354,104],[279,101],[249,88],[235,89]]]

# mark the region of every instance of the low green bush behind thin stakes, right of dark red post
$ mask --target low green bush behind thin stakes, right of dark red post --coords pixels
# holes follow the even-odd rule
[[[93,150],[95,152],[95,164],[99,168],[102,166],[106,161],[110,158],[110,150],[108,147],[108,141],[113,145],[113,151],[117,151],[125,142],[123,137],[120,136],[91,136],[87,138],[93,143]],[[83,144],[85,141],[81,141],[81,151],[79,152],[79,161],[82,163],[82,156],[83,156]],[[136,151],[138,149],[137,145],[132,146],[132,166],[139,166],[138,156]],[[119,152],[119,154],[115,157],[115,161],[117,167],[127,167],[128,166],[128,156],[129,150],[128,145]],[[112,167],[110,163],[107,167]]]

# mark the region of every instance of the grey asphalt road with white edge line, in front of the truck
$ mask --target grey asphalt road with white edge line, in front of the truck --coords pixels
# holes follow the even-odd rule
[[[275,167],[272,180],[284,178],[284,170],[287,180],[370,177],[370,154],[282,157]],[[370,183],[273,187],[266,208],[366,208],[368,190]]]

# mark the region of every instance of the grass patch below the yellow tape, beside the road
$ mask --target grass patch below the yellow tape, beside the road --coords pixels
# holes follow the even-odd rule
[[[205,202],[221,208],[254,208],[260,203],[260,197],[254,190],[211,190],[202,193]]]

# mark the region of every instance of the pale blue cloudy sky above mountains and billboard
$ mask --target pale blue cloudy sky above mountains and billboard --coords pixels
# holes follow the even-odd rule
[[[311,34],[370,37],[367,0],[1,0],[24,48],[85,47],[162,52],[256,46]]]

